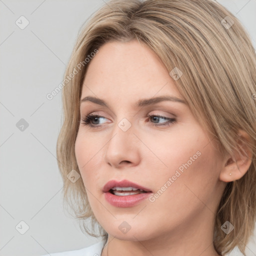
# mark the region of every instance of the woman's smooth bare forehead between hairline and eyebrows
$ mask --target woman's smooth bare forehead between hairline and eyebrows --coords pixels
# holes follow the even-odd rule
[[[137,40],[107,42],[88,63],[82,95],[119,95],[123,99],[152,97],[156,93],[181,97],[160,58]],[[109,95],[111,94],[111,95]]]

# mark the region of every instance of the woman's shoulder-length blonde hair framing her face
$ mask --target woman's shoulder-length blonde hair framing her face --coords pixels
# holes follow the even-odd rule
[[[223,154],[236,150],[238,129],[249,134],[252,162],[240,179],[226,184],[213,239],[218,253],[228,253],[237,245],[244,254],[256,212],[256,54],[239,20],[213,0],[111,0],[82,28],[64,74],[77,71],[62,89],[64,120],[56,149],[65,202],[73,216],[83,220],[82,230],[97,236],[98,226],[107,238],[90,208],[82,179],[72,183],[67,174],[72,169],[79,173],[74,143],[81,85],[89,64],[85,58],[105,42],[132,39],[150,47],[167,70],[182,71],[175,84],[201,125],[220,142]],[[87,218],[93,232],[84,224]],[[234,226],[228,234],[220,228],[226,220]]]

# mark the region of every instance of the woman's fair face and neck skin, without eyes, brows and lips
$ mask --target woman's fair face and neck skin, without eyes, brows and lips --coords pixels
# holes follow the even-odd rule
[[[92,211],[108,233],[102,256],[218,255],[212,243],[215,209],[226,182],[242,176],[250,163],[242,160],[236,170],[187,104],[134,107],[138,99],[160,95],[183,99],[158,56],[137,40],[107,42],[89,62],[81,98],[98,97],[109,107],[81,103],[75,155]],[[91,121],[99,127],[82,124],[92,112],[103,116]],[[148,114],[176,121],[154,126],[167,120]],[[127,131],[118,126],[122,118],[131,124]],[[200,156],[155,201],[121,208],[105,200],[102,188],[110,179],[128,179],[156,193],[197,151]],[[123,221],[131,227],[125,234],[118,228]]]

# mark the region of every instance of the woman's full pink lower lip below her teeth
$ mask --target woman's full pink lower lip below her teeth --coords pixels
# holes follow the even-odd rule
[[[131,195],[115,195],[110,192],[105,192],[105,199],[116,207],[131,207],[147,198],[152,192],[131,194]]]

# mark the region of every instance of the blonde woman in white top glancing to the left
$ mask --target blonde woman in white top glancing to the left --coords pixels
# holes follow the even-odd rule
[[[64,197],[103,239],[51,255],[245,255],[256,56],[235,16],[211,0],[109,1],[65,77]]]

